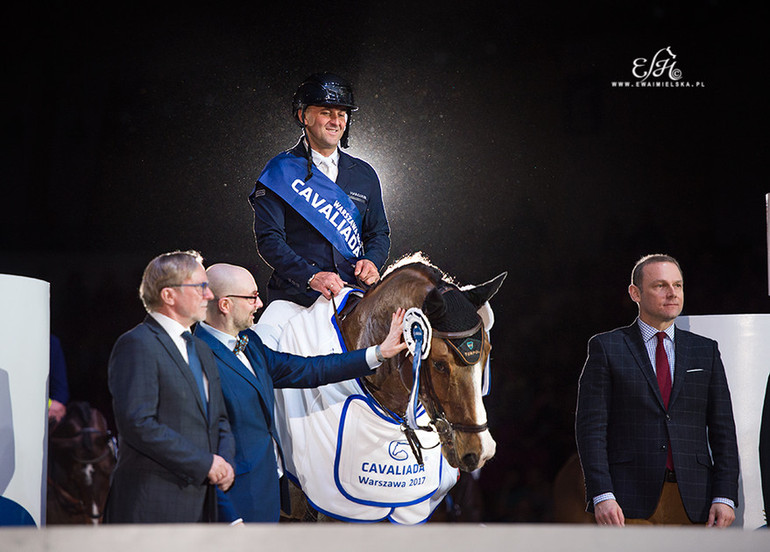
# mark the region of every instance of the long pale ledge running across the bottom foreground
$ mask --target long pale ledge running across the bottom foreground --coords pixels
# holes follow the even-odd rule
[[[764,529],[428,523],[102,525],[0,529],[5,552],[759,552]]]

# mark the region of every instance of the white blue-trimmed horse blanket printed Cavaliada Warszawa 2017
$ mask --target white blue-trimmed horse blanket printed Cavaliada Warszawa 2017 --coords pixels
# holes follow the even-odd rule
[[[338,309],[351,292],[345,289],[337,296]],[[279,348],[303,356],[343,352],[333,303],[320,297],[289,320]],[[457,482],[459,472],[442,456],[436,433],[417,430],[425,447],[420,465],[400,420],[384,411],[359,380],[276,389],[275,395],[285,471],[327,516],[422,523]],[[429,422],[422,408],[417,421],[421,426]]]

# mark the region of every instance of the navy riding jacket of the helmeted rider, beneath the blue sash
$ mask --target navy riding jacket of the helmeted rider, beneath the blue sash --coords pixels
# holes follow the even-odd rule
[[[306,157],[303,142],[292,155]],[[313,167],[314,171],[321,169]],[[363,216],[361,240],[364,253],[378,269],[390,251],[390,228],[382,203],[380,180],[365,161],[340,151],[337,185],[348,194]],[[268,301],[285,299],[309,307],[320,295],[308,289],[310,277],[319,271],[336,272],[351,284],[355,263],[347,261],[309,222],[286,204],[277,194],[257,182],[249,196],[254,208],[254,235],[264,261],[273,268],[267,283]]]

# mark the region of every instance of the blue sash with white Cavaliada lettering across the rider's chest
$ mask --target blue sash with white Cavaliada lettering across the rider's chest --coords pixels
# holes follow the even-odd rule
[[[290,153],[271,159],[259,181],[288,203],[350,261],[363,252],[362,217],[347,194],[320,170],[305,182],[307,161]]]

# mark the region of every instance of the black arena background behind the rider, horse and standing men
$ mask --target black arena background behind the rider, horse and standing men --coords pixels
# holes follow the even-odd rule
[[[108,416],[152,257],[194,248],[266,283],[246,197],[319,70],[354,83],[348,151],[380,174],[391,260],[508,271],[485,521],[553,519],[586,341],[633,320],[638,257],[679,259],[685,314],[770,312],[761,3],[49,4],[4,23],[0,273],[51,282],[72,398]],[[667,46],[703,87],[612,87]]]

